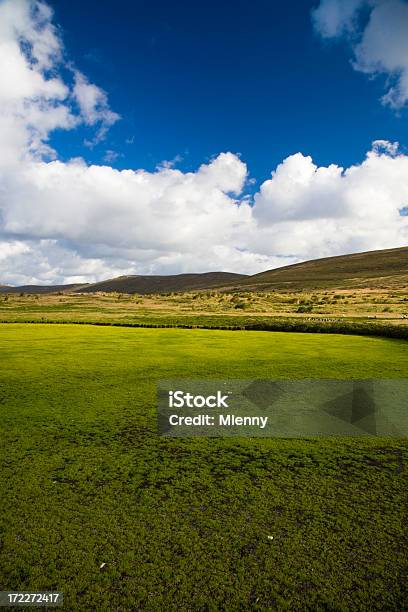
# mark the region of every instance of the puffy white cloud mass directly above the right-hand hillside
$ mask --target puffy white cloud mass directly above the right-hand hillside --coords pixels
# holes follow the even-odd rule
[[[408,156],[378,140],[349,168],[291,155],[262,184],[253,214],[278,252],[304,259],[406,245],[407,202]]]

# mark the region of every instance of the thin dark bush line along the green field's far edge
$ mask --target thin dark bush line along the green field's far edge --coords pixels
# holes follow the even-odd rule
[[[229,331],[281,331],[319,334],[347,334],[358,336],[379,336],[385,338],[408,339],[408,325],[384,325],[378,323],[355,323],[350,321],[313,322],[313,321],[265,321],[245,323],[242,325],[220,325],[207,323],[124,323],[120,321],[56,321],[56,320],[14,320],[2,323],[34,323],[53,325],[97,325],[100,327],[135,327],[135,328],[176,328],[176,329],[216,329]]]

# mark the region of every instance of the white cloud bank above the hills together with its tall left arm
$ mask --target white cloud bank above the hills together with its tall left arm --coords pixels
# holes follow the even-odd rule
[[[326,19],[327,31],[353,16],[350,9],[342,21]],[[253,199],[245,196],[246,164],[231,152],[194,172],[171,164],[117,170],[109,156],[107,165],[58,160],[48,144],[53,130],[92,126],[92,146],[118,115],[64,60],[52,17],[43,3],[0,2],[0,283],[255,273],[407,244],[408,156],[398,143],[375,141],[350,168],[317,167],[295,153]]]

